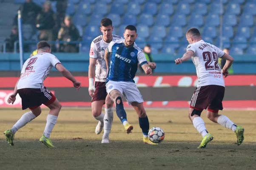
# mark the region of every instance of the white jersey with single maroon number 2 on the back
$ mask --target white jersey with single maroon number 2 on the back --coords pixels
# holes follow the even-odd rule
[[[57,63],[60,61],[50,53],[39,53],[27,59],[23,65],[17,89],[43,88],[43,81]]]

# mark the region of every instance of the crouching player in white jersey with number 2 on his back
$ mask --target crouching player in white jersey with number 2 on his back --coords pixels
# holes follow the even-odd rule
[[[6,141],[8,141],[11,146],[14,145],[14,134],[17,130],[39,116],[42,111],[40,105],[44,104],[50,109],[50,112],[46,119],[46,127],[43,136],[39,141],[47,147],[54,147],[50,139],[50,134],[57,122],[61,105],[56,97],[43,85],[43,81],[48,77],[51,68],[55,67],[64,77],[73,82],[77,90],[81,87],[81,82],[78,82],[71,73],[63,67],[57,57],[50,53],[51,46],[48,42],[40,41],[37,44],[37,54],[27,59],[24,63],[20,79],[15,85],[13,94],[8,98],[8,103],[13,104],[17,94],[19,94],[22,100],[22,110],[30,109],[29,112],[21,116],[11,129],[4,132]]]

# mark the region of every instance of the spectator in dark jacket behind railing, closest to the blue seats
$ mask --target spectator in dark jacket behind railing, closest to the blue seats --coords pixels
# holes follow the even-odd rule
[[[64,26],[60,28],[58,34],[59,41],[80,41],[80,34],[77,30],[76,26],[71,23],[71,18],[69,16],[65,17]],[[70,52],[70,53],[77,53],[79,52],[79,48],[76,44],[60,44],[59,46],[60,52]]]

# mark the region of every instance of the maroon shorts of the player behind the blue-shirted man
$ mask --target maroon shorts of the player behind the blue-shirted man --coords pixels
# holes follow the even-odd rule
[[[91,102],[105,100],[108,95],[106,90],[106,82],[95,82],[95,92],[91,99]]]

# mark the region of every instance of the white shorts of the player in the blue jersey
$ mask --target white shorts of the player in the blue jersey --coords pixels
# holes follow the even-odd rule
[[[120,91],[125,96],[129,105],[131,105],[132,102],[144,102],[134,82],[114,82],[109,80],[106,84],[106,89],[108,94],[115,89]]]

